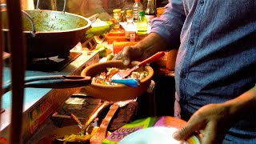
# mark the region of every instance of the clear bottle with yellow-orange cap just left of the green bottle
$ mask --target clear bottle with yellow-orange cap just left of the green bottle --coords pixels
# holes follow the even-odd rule
[[[134,25],[134,15],[132,10],[126,10],[126,38],[130,42],[136,42],[136,26]]]

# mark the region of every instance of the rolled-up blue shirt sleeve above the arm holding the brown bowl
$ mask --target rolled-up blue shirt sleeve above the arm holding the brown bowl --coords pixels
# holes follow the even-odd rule
[[[170,0],[160,18],[152,20],[151,33],[165,39],[167,46],[178,46],[183,23],[186,19],[182,0]]]

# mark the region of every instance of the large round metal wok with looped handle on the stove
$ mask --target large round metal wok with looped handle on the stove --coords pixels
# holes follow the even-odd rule
[[[88,18],[78,14],[54,10],[25,10],[25,12],[32,19],[31,22],[27,14],[22,14],[27,58],[48,58],[69,54],[69,51],[84,38],[91,24]],[[1,14],[2,31],[8,50],[7,12],[2,11]]]

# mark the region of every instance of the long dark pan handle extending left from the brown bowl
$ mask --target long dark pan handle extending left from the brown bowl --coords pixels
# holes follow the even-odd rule
[[[76,75],[49,75],[26,77],[24,87],[63,89],[88,86],[90,83],[90,77],[82,77]],[[3,93],[10,91],[10,87],[11,82],[6,82],[3,84]]]

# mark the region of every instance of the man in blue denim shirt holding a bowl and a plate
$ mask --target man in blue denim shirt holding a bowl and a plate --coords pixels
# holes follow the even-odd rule
[[[202,143],[256,143],[255,0],[170,0],[150,34],[115,59],[128,65],[178,47],[174,134]]]

